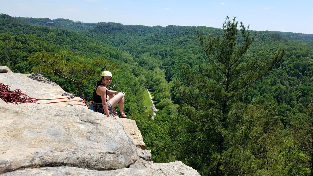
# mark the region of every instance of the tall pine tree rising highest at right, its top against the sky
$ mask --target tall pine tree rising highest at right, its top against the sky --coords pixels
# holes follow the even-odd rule
[[[223,35],[206,37],[198,31],[207,62],[199,66],[198,73],[184,66],[183,82],[176,85],[182,115],[188,119],[184,159],[208,175],[255,172],[258,166],[249,166],[253,153],[247,151],[247,145],[274,123],[275,113],[267,111],[273,109],[273,104],[265,105],[267,110],[263,106],[250,107],[240,104],[238,97],[272,70],[285,52],[277,51],[268,60],[245,57],[256,32],[251,35],[249,26],[245,28],[242,22],[240,31],[237,26],[235,17],[230,20],[226,16]],[[260,113],[251,114],[249,109]]]

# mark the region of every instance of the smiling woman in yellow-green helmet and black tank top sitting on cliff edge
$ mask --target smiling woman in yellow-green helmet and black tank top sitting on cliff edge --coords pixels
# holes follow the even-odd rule
[[[124,102],[125,93],[117,92],[107,89],[105,86],[110,85],[112,81],[112,73],[110,71],[104,71],[101,74],[101,79],[95,86],[92,101],[97,106],[94,111],[101,112],[107,117],[113,117],[117,112],[114,111],[113,107],[118,104],[120,108],[120,118],[127,118],[124,113]],[[110,110],[110,111],[109,111]]]

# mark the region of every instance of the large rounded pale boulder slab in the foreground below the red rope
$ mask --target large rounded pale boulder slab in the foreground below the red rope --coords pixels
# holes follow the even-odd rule
[[[0,104],[0,173],[32,166],[126,168],[137,149],[121,123],[85,106]]]

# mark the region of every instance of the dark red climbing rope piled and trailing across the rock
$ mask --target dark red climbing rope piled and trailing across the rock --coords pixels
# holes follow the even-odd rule
[[[6,103],[13,103],[15,105],[21,104],[21,103],[37,103],[38,100],[58,100],[58,99],[72,99],[76,95],[72,95],[70,97],[64,97],[64,98],[51,98],[51,99],[37,99],[32,98],[24,93],[22,93],[21,90],[15,89],[14,91],[10,91],[9,85],[4,85],[0,83],[0,98],[5,101]],[[80,96],[81,97],[81,96]],[[85,99],[81,97],[84,100],[84,106],[88,106],[85,102]],[[67,101],[78,101],[78,100],[67,100]],[[66,102],[66,101],[57,101],[57,102],[49,102],[49,103],[59,103],[59,102]],[[78,101],[81,102],[81,101]],[[38,103],[40,104],[40,103]],[[48,104],[48,103],[47,103]],[[73,105],[71,105],[73,106]]]

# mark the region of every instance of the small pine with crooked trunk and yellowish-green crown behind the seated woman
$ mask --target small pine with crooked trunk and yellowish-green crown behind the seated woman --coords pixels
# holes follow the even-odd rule
[[[52,55],[46,51],[36,53],[29,60],[38,65],[33,68],[38,72],[55,74],[61,78],[72,81],[77,86],[80,96],[82,96],[80,84],[89,78],[99,77],[99,70],[96,70],[94,66],[104,66],[102,70],[108,65],[111,69],[118,67],[103,58],[94,58],[92,60],[93,66],[86,64],[84,60],[80,60],[80,62],[68,62],[64,58],[64,54],[57,53]]]

